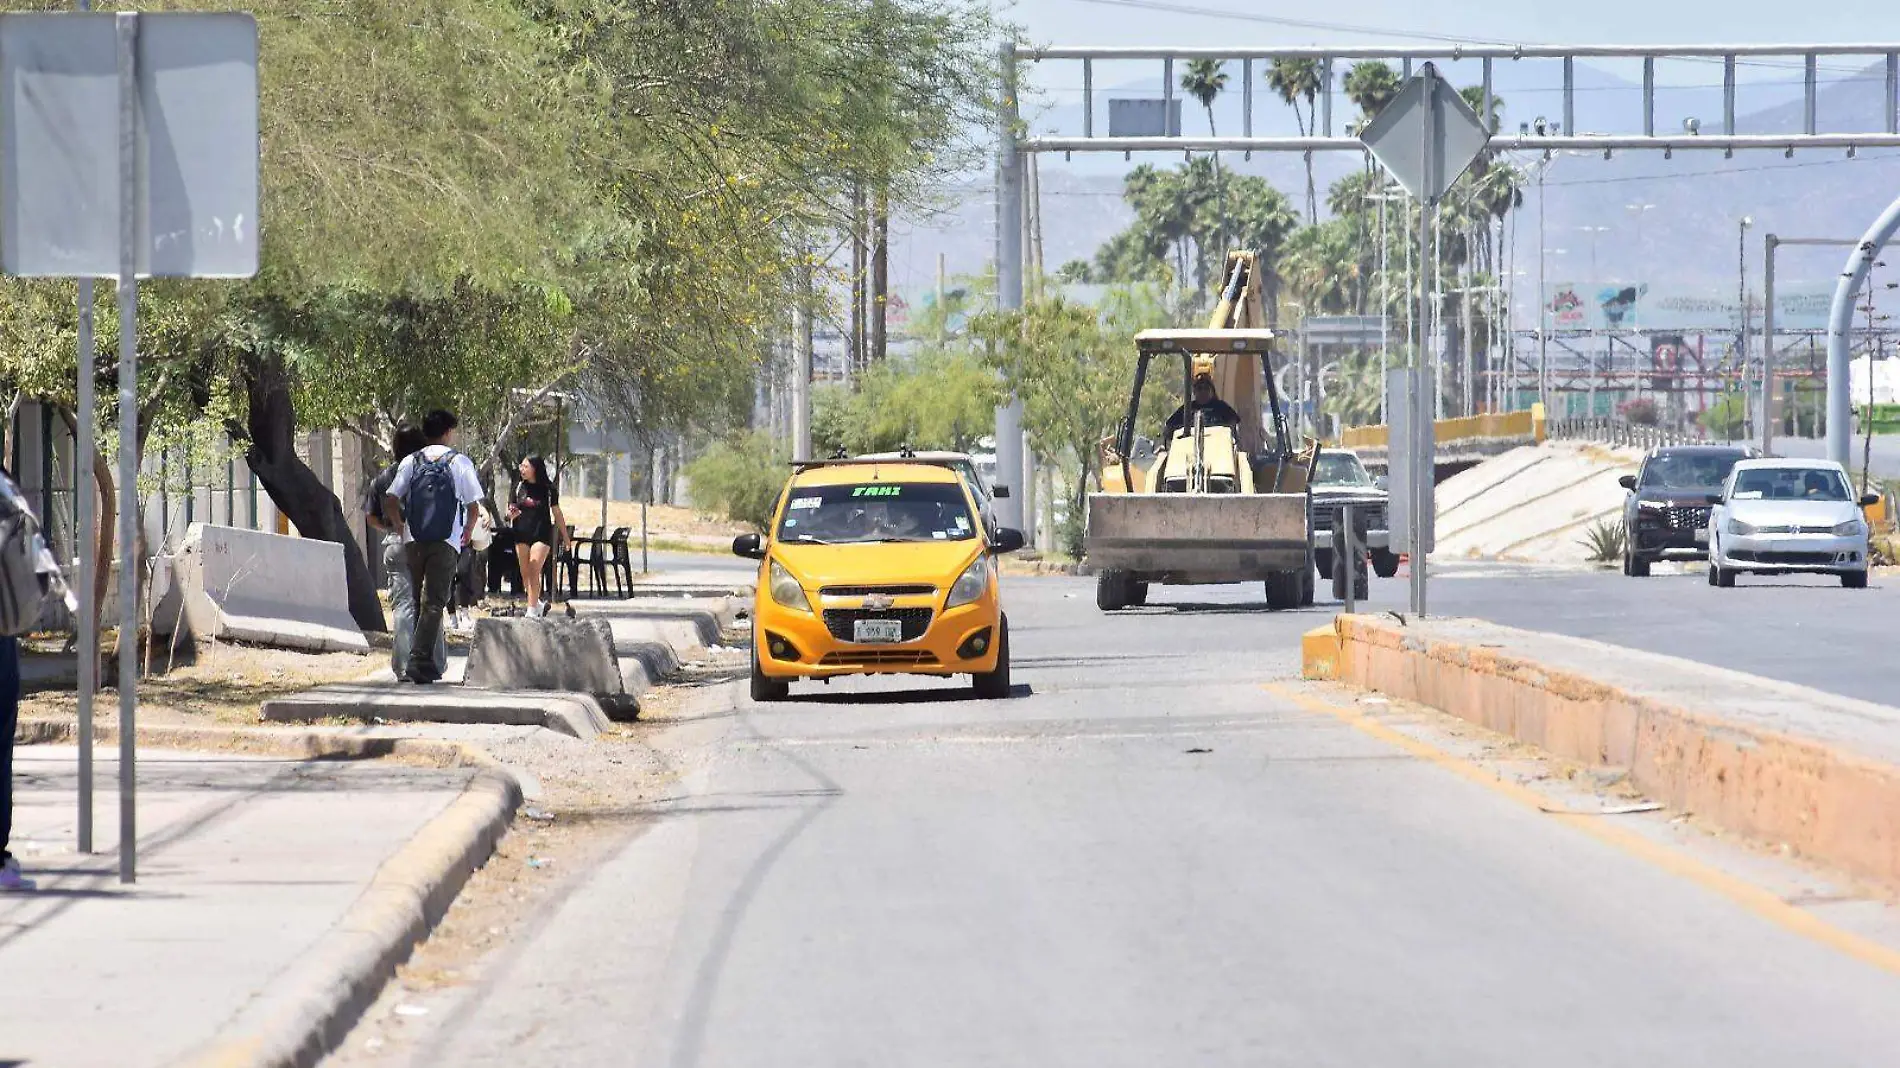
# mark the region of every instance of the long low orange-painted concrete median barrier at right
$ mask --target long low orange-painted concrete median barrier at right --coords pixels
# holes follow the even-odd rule
[[[1472,620],[1340,616],[1336,633],[1341,682],[1623,770],[1672,810],[1900,891],[1900,709]]]

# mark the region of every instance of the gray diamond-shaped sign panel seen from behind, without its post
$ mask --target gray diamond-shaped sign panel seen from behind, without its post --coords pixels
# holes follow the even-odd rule
[[[1490,144],[1478,112],[1427,63],[1358,141],[1417,200],[1436,201]]]

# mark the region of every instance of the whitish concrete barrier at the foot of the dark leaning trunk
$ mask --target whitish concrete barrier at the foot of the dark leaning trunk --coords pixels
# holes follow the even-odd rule
[[[302,650],[369,652],[350,616],[344,547],[194,523],[152,580],[152,631],[177,627]]]

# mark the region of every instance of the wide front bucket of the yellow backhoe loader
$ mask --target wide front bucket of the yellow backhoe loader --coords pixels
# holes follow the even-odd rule
[[[1091,494],[1089,563],[1148,582],[1252,582],[1307,566],[1305,494]]]

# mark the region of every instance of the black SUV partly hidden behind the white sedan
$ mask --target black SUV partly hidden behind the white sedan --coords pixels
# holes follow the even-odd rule
[[[1721,492],[1737,460],[1759,456],[1738,445],[1664,445],[1644,456],[1642,471],[1617,479],[1623,502],[1623,574],[1644,578],[1664,557],[1708,559],[1708,494]]]

